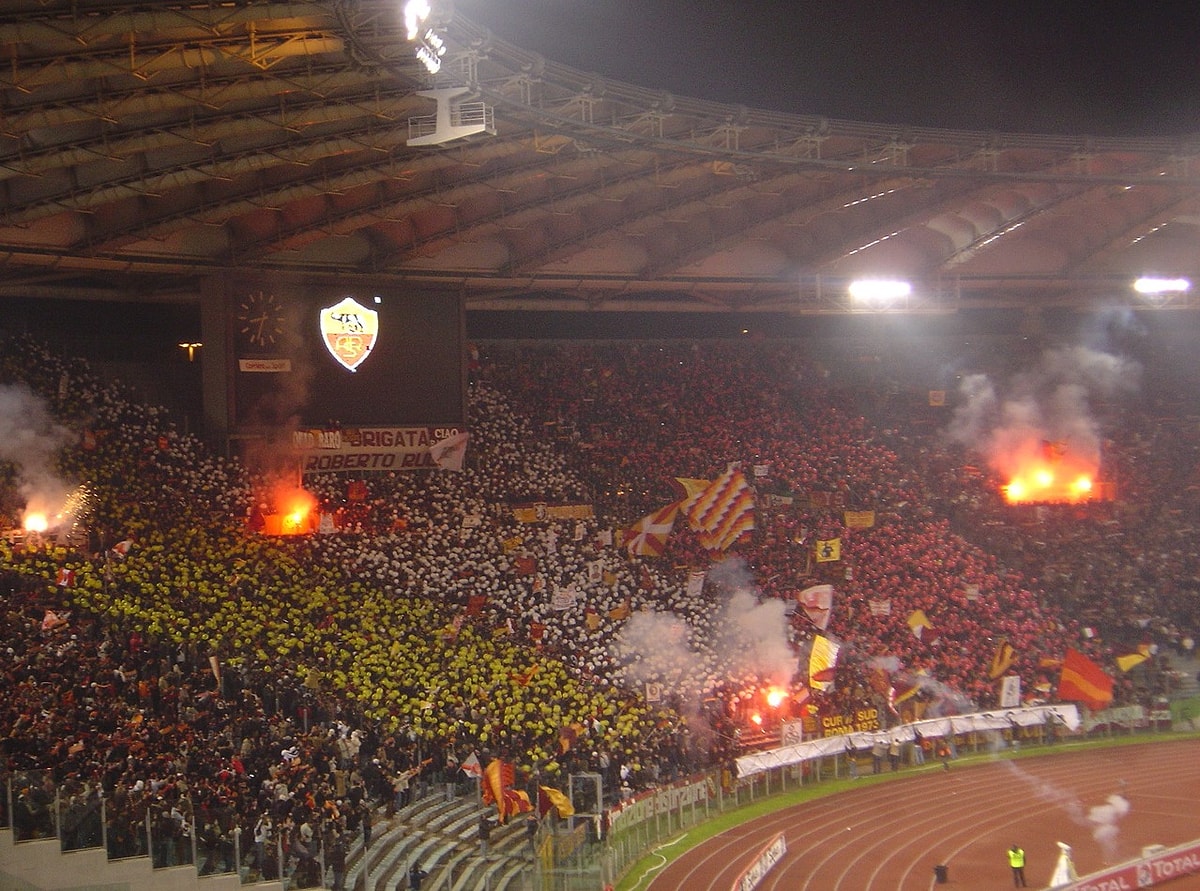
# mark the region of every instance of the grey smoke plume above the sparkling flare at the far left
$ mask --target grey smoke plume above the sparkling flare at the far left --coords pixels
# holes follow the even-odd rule
[[[0,385],[0,461],[16,468],[26,512],[58,512],[74,486],[55,472],[54,459],[74,433],[23,383]]]

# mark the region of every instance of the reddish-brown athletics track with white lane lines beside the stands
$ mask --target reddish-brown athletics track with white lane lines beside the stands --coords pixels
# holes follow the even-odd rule
[[[1121,794],[1128,813],[1102,844],[1093,807]],[[1044,889],[1072,845],[1080,875],[1140,856],[1144,845],[1200,839],[1200,740],[1175,740],[1044,757],[910,767],[895,779],[760,817],[679,855],[649,891],[730,891],[778,832],[787,854],[763,891],[928,891],[1013,887],[1004,851],[1025,848],[1028,886]],[[646,887],[646,879],[638,887]],[[1200,891],[1200,877],[1170,891]]]

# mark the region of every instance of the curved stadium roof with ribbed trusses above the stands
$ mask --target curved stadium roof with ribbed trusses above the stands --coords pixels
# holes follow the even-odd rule
[[[0,297],[190,301],[265,273],[468,310],[836,313],[851,280],[896,277],[887,306],[948,312],[1200,282],[1200,134],[756,110],[450,7],[414,22],[398,0],[7,0]]]

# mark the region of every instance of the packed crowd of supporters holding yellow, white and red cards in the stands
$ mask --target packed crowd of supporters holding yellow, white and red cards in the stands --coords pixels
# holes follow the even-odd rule
[[[46,783],[80,806],[102,794],[114,855],[179,862],[194,835],[203,869],[236,850],[299,875],[317,848],[370,832],[372,806],[474,758],[550,784],[595,770],[617,794],[736,754],[742,706],[768,683],[887,722],[901,686],[925,712],[995,705],[1002,642],[1006,670],[1046,699],[1068,646],[1102,660],[1190,647],[1181,423],[1114,408],[1121,501],[1018,514],[978,459],[874,424],[836,383],[794,343],[487,345],[461,472],[306,477],[335,531],[275,538],[247,518],[280,479],[85,364],[7,341],[0,387],[50,415],[25,415],[54,444],[41,470],[85,484],[76,540],[0,543],[14,815],[46,831]],[[31,464],[0,464],[13,525]],[[713,554],[679,520],[661,556],[623,548],[625,527],[680,500],[673,480],[730,466],[755,486],[751,534]],[[839,558],[817,560],[818,540]],[[816,584],[834,588],[823,630],[796,602]],[[779,610],[762,622],[764,606]],[[810,694],[817,634],[841,657]],[[1117,686],[1118,701],[1145,692]]]

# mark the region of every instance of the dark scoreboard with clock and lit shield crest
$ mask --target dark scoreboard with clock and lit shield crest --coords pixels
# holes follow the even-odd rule
[[[232,429],[461,429],[464,317],[456,293],[230,287]]]

